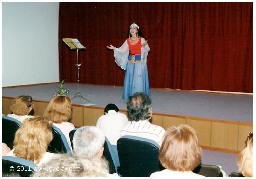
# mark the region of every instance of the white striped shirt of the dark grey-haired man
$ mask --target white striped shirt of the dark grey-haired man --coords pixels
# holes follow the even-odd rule
[[[148,120],[131,121],[125,124],[122,128],[120,135],[132,135],[151,139],[158,143],[160,146],[165,134],[164,128],[151,124]]]

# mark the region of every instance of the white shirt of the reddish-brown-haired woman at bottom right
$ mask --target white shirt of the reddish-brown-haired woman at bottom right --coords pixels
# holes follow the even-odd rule
[[[199,175],[196,174],[192,171],[172,171],[172,170],[168,170],[168,169],[164,169],[162,171],[158,171],[158,172],[154,172],[150,175],[150,177],[152,178],[173,178],[173,179],[177,179],[177,178],[182,178],[182,179],[196,179],[196,178],[207,178],[203,175]]]

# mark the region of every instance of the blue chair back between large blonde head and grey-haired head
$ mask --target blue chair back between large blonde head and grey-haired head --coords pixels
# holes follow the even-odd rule
[[[52,126],[53,131],[53,140],[48,146],[48,152],[51,153],[69,153],[72,154],[72,151],[68,145],[65,135],[61,132],[56,126]]]

